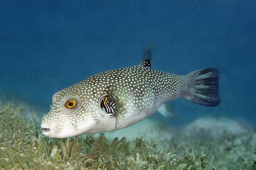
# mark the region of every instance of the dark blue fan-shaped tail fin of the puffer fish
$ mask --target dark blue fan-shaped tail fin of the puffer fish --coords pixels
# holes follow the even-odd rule
[[[199,69],[186,76],[189,79],[189,96],[185,98],[204,106],[218,106],[220,104],[219,70],[217,68]]]

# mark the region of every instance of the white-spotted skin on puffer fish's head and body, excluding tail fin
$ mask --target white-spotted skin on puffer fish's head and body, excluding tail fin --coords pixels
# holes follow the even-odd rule
[[[109,86],[117,88],[120,100],[125,100],[129,108],[143,108],[145,112],[154,109],[158,101],[176,98],[184,90],[180,88],[185,86],[182,76],[160,72],[144,64],[101,72],[60,90],[53,95],[52,108],[42,124],[54,125],[53,130],[60,132],[62,127],[76,129],[88,119],[100,121],[103,115],[99,106],[94,105],[98,104],[100,96],[108,93]],[[67,112],[64,103],[74,96],[79,99],[80,107]]]

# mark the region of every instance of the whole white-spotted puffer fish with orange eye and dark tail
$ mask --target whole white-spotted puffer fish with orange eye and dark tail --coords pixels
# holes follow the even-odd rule
[[[128,127],[156,111],[177,118],[166,107],[167,101],[183,97],[204,106],[218,106],[218,81],[216,68],[188,75],[151,69],[149,46],[139,65],[101,72],[56,92],[41,127],[46,136],[67,138]]]

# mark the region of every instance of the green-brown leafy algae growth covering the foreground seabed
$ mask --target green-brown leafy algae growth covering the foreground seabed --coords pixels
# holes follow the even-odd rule
[[[35,114],[26,120],[12,104],[0,103],[0,170],[255,170],[256,160],[241,162],[234,167],[215,167],[207,162],[207,154],[185,156],[157,150],[154,141],[143,137],[106,138],[88,134],[74,138],[54,139],[41,135],[40,121]],[[213,159],[212,159],[213,160]]]

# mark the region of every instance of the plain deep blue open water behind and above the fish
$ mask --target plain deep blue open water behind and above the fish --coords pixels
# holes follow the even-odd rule
[[[221,105],[174,100],[181,119],[169,124],[207,115],[256,124],[256,1],[21,2],[0,4],[2,102],[22,98],[41,117],[55,92],[97,72],[139,64],[152,43],[153,69],[221,72]]]

